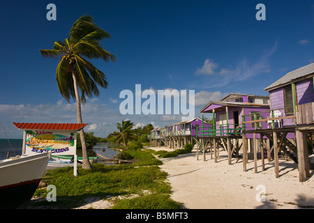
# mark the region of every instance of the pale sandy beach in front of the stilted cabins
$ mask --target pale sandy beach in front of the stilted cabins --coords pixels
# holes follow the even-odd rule
[[[262,161],[258,160],[255,174],[253,160],[248,160],[248,171],[244,172],[241,159],[232,158],[232,164],[228,165],[225,151],[220,151],[216,163],[210,153],[206,154],[206,161],[201,153],[197,160],[195,151],[160,159],[163,161],[160,168],[168,173],[172,199],[184,203],[185,208],[314,208],[313,170],[310,170],[311,177],[300,183],[297,164],[293,161],[281,159],[280,177],[276,178],[274,162],[265,160],[262,171]]]

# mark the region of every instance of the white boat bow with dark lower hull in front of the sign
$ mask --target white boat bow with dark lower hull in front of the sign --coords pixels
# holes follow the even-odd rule
[[[0,161],[0,208],[26,208],[40,183],[51,153]]]

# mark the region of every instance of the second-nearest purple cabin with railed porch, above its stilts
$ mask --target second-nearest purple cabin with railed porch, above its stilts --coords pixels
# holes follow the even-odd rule
[[[197,128],[197,137],[241,137],[241,116],[247,114],[253,120],[257,112],[269,110],[269,97],[231,93],[220,101],[209,102],[200,110],[201,113],[213,114],[211,127]],[[258,118],[264,118],[261,114]],[[265,126],[266,127],[266,126]],[[255,124],[247,126],[254,129]],[[253,138],[253,134],[248,135]]]

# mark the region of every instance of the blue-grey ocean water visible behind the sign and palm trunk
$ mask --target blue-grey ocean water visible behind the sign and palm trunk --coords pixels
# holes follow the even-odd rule
[[[9,141],[13,149],[10,147],[8,139],[0,139],[0,160],[6,159],[8,151],[10,152],[9,157],[13,157],[15,155],[22,155],[23,139],[9,139]],[[89,155],[97,156],[98,153],[108,158],[116,156],[119,153],[119,151],[113,148],[109,148],[109,145],[110,144],[108,143],[98,143],[93,148],[94,153],[89,153]],[[77,154],[77,156],[80,156],[80,154]]]

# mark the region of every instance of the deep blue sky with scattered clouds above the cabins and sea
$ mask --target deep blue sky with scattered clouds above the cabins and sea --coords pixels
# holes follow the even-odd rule
[[[57,21],[48,21],[48,3]],[[257,3],[266,20],[257,21]],[[264,88],[291,70],[314,62],[313,1],[3,1],[0,8],[0,121],[10,138],[15,122],[75,123],[75,102],[57,88],[58,60],[39,49],[64,40],[73,22],[91,15],[112,35],[105,49],[114,63],[93,61],[109,83],[82,107],[85,131],[99,137],[117,122],[163,127],[181,115],[121,115],[124,89],[195,91],[195,116],[229,93],[268,95]],[[5,138],[0,130],[0,138]]]

